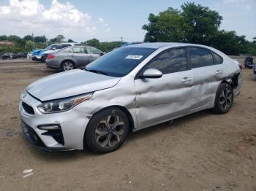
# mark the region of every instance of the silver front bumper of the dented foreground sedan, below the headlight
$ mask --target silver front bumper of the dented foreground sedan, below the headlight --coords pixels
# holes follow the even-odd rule
[[[34,114],[26,112],[23,103],[31,106]],[[36,98],[27,94],[21,98],[19,111],[23,133],[31,144],[45,151],[56,152],[83,149],[83,138],[90,114],[71,109],[67,112],[42,114],[37,109],[41,104]],[[28,111],[28,110],[27,110]],[[56,139],[50,130],[39,128],[41,125],[57,124],[61,128],[61,135]],[[63,141],[59,141],[63,139]]]

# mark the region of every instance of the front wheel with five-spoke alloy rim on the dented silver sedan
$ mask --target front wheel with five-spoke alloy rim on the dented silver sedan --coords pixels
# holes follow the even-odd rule
[[[86,128],[84,144],[100,154],[113,152],[127,139],[129,120],[121,109],[112,107],[95,114]]]

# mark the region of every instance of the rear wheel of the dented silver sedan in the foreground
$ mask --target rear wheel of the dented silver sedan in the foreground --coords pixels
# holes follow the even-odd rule
[[[218,114],[227,113],[233,106],[234,93],[233,87],[227,83],[219,85],[216,93],[214,112]]]

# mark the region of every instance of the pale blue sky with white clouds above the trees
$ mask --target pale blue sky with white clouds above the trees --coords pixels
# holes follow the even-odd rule
[[[168,7],[180,9],[189,0],[0,0],[0,35],[62,34],[76,42],[141,42],[148,15]],[[192,1],[189,1],[192,2]],[[194,0],[222,15],[221,29],[252,41],[256,36],[256,0]]]

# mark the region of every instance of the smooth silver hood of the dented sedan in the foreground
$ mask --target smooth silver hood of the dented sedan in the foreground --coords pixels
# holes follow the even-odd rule
[[[107,89],[115,86],[120,79],[75,69],[39,79],[26,90],[40,101],[49,101]]]

